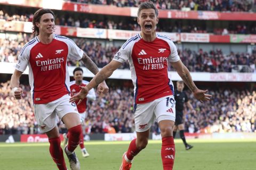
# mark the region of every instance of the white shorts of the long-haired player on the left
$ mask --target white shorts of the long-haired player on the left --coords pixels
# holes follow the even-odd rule
[[[60,120],[68,113],[78,113],[76,104],[69,103],[69,95],[46,104],[34,104],[35,118],[41,132],[48,132],[57,125],[57,115]]]

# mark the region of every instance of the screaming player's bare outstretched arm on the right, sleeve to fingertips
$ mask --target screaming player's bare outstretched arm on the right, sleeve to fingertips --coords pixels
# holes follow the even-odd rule
[[[178,72],[181,79],[185,82],[188,88],[193,92],[197,100],[201,101],[201,103],[204,103],[204,101],[209,101],[211,99],[212,96],[206,94],[207,90],[200,90],[196,87],[188,71],[188,68],[181,62],[181,60],[174,63],[171,62],[171,65]]]

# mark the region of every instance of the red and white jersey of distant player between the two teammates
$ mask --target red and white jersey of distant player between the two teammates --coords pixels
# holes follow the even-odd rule
[[[82,81],[81,85],[77,85],[76,81],[71,81],[70,82],[70,91],[71,91],[71,96],[74,96],[76,94],[78,94],[78,92],[81,90],[81,88],[79,86],[86,86],[89,83],[89,81]],[[89,90],[88,95],[86,96],[86,98],[84,98],[82,100],[82,102],[77,105],[77,103],[79,102],[79,100],[76,100],[76,107],[78,109],[78,113],[84,113],[86,111],[87,108],[87,99],[89,100],[95,100],[96,99],[96,95],[95,95],[95,91],[92,88],[91,90]]]

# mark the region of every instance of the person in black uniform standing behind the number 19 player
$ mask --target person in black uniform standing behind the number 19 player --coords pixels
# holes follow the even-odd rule
[[[186,142],[186,138],[184,135],[184,124],[183,124],[183,108],[184,108],[184,103],[187,104],[189,109],[191,110],[192,113],[196,113],[195,109],[193,109],[192,105],[190,104],[188,97],[186,93],[183,91],[184,88],[184,82],[183,81],[177,81],[177,88],[174,91],[174,98],[176,101],[176,118],[175,118],[175,125],[173,129],[173,138],[175,138],[175,134],[177,132],[177,129],[180,131],[180,138],[182,139],[186,150],[189,150],[193,148],[193,146],[189,145]]]

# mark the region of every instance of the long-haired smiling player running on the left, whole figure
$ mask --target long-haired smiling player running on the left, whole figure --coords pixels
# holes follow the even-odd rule
[[[67,170],[63,151],[60,147],[60,136],[57,116],[65,123],[69,139],[65,147],[71,170],[80,169],[75,155],[82,133],[81,122],[76,104],[69,103],[69,74],[67,58],[82,60],[93,74],[99,72],[83,50],[69,38],[54,35],[54,13],[45,8],[35,12],[31,39],[21,50],[18,63],[11,78],[11,87],[16,99],[21,99],[19,87],[22,72],[29,66],[29,84],[35,108],[35,118],[41,132],[45,132],[50,142],[50,154],[60,170]],[[105,82],[100,82],[98,90],[108,92]]]

